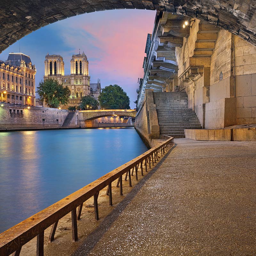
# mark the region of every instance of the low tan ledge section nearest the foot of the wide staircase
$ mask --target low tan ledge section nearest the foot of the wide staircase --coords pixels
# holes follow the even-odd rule
[[[231,129],[184,129],[191,140],[231,140]]]

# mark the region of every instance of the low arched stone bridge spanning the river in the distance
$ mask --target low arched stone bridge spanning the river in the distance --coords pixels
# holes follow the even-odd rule
[[[80,110],[79,124],[81,127],[92,127],[94,119],[104,116],[136,116],[137,112],[134,109],[99,109],[99,110]]]

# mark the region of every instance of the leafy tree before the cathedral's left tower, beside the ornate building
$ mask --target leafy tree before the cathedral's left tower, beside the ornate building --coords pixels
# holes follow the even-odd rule
[[[71,94],[68,86],[64,87],[57,79],[41,80],[37,87],[37,93],[40,100],[46,102],[50,108],[58,108],[60,105],[66,105]]]

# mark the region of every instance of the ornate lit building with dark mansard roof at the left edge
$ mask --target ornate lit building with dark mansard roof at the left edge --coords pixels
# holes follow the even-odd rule
[[[35,106],[35,75],[36,67],[24,53],[11,52],[0,60],[1,102]]]

